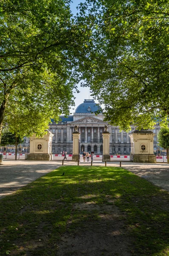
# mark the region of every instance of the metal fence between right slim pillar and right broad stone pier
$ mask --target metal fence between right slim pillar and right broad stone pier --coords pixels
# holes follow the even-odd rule
[[[111,142],[110,143],[110,160],[111,161],[132,161],[132,148],[134,143],[131,142]]]

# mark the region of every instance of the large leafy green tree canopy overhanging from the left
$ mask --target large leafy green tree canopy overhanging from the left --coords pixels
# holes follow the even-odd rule
[[[74,105],[72,90],[77,90],[75,84],[80,79],[76,56],[87,29],[76,26],[69,3],[1,0],[0,136],[6,108],[13,100],[19,104],[27,97],[22,104],[34,102],[40,107],[43,98],[48,120],[69,114]]]

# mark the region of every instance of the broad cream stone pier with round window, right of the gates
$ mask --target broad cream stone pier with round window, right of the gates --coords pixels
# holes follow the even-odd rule
[[[154,135],[152,131],[148,130],[133,131],[130,135],[131,143],[134,143],[134,148],[131,151],[133,162],[156,163],[153,148]]]

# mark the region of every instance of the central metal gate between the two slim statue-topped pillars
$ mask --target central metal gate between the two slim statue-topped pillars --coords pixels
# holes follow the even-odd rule
[[[89,152],[89,162],[103,162],[103,139],[91,139],[86,145]],[[80,162],[87,162],[87,157],[83,159],[83,153],[80,153]]]

